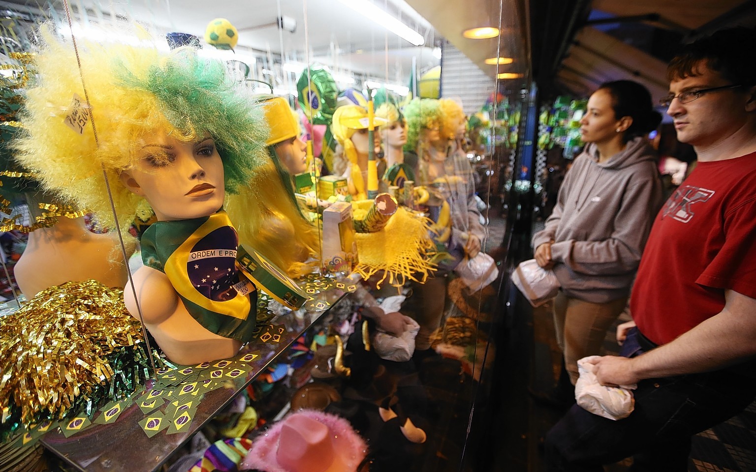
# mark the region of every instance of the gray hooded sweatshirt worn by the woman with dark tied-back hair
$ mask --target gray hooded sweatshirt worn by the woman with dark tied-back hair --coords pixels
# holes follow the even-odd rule
[[[591,303],[627,297],[661,206],[655,151],[645,137],[603,163],[588,144],[566,174],[545,229],[533,236],[533,248],[553,241],[553,271],[565,295]]]

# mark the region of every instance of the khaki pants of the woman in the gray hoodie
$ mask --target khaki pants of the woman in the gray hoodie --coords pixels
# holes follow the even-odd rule
[[[578,381],[578,359],[601,353],[606,330],[627,304],[627,297],[608,303],[590,303],[559,292],[554,299],[556,343],[565,356],[570,381]]]

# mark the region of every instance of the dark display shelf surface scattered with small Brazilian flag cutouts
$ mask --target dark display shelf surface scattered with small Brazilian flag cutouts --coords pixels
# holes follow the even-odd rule
[[[271,320],[271,331],[274,331],[268,331],[271,338],[265,334],[260,335],[243,347],[237,356],[225,361],[210,362],[206,367],[193,367],[192,372],[183,379],[178,372],[184,366],[179,366],[168,374],[162,372],[162,376],[158,369],[156,379],[149,382],[150,390],[125,406],[114,422],[90,424],[69,437],[66,437],[62,429],[56,429],[42,437],[42,444],[70,464],[72,470],[156,470],[207,421],[222,412],[258,375],[265,372],[277,356],[285,353],[294,341],[326,315],[346,293],[342,288],[333,286],[311,295],[312,303],[308,303],[308,306],[326,308],[305,311],[301,318],[292,312],[277,316]],[[176,378],[166,380],[166,375],[175,375]],[[157,399],[152,411],[149,403],[143,405],[143,402],[150,401],[150,393],[153,394],[153,399]],[[182,409],[188,416],[184,418],[185,424],[181,424],[178,419],[182,415]],[[155,418],[162,419],[157,421]],[[93,422],[98,423],[97,416]],[[151,430],[148,429],[150,427]],[[149,437],[148,433],[154,435]]]

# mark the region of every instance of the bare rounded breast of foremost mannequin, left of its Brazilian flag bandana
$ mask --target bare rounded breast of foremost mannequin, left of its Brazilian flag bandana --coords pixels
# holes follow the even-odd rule
[[[165,273],[152,267],[143,266],[133,274],[132,279],[134,289],[132,290],[131,283],[127,282],[123,290],[126,308],[129,313],[132,313],[132,316],[139,319],[137,301],[141,309],[141,316],[147,324],[163,322],[175,313],[180,300]]]

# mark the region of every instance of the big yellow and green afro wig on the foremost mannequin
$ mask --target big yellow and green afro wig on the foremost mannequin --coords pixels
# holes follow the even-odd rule
[[[22,115],[26,136],[15,145],[19,161],[38,173],[45,188],[88,208],[107,227],[113,214],[103,168],[119,221],[128,225],[146,202],[118,176],[137,162],[138,140],[158,129],[187,141],[210,134],[223,160],[226,191],[248,183],[265,156],[268,130],[262,110],[236,91],[225,65],[191,48],[160,51],[138,27],[113,36],[123,35],[137,36],[141,45],[79,39],[77,54],[73,42],[42,26],[39,76]],[[66,123],[87,112],[80,128]]]

